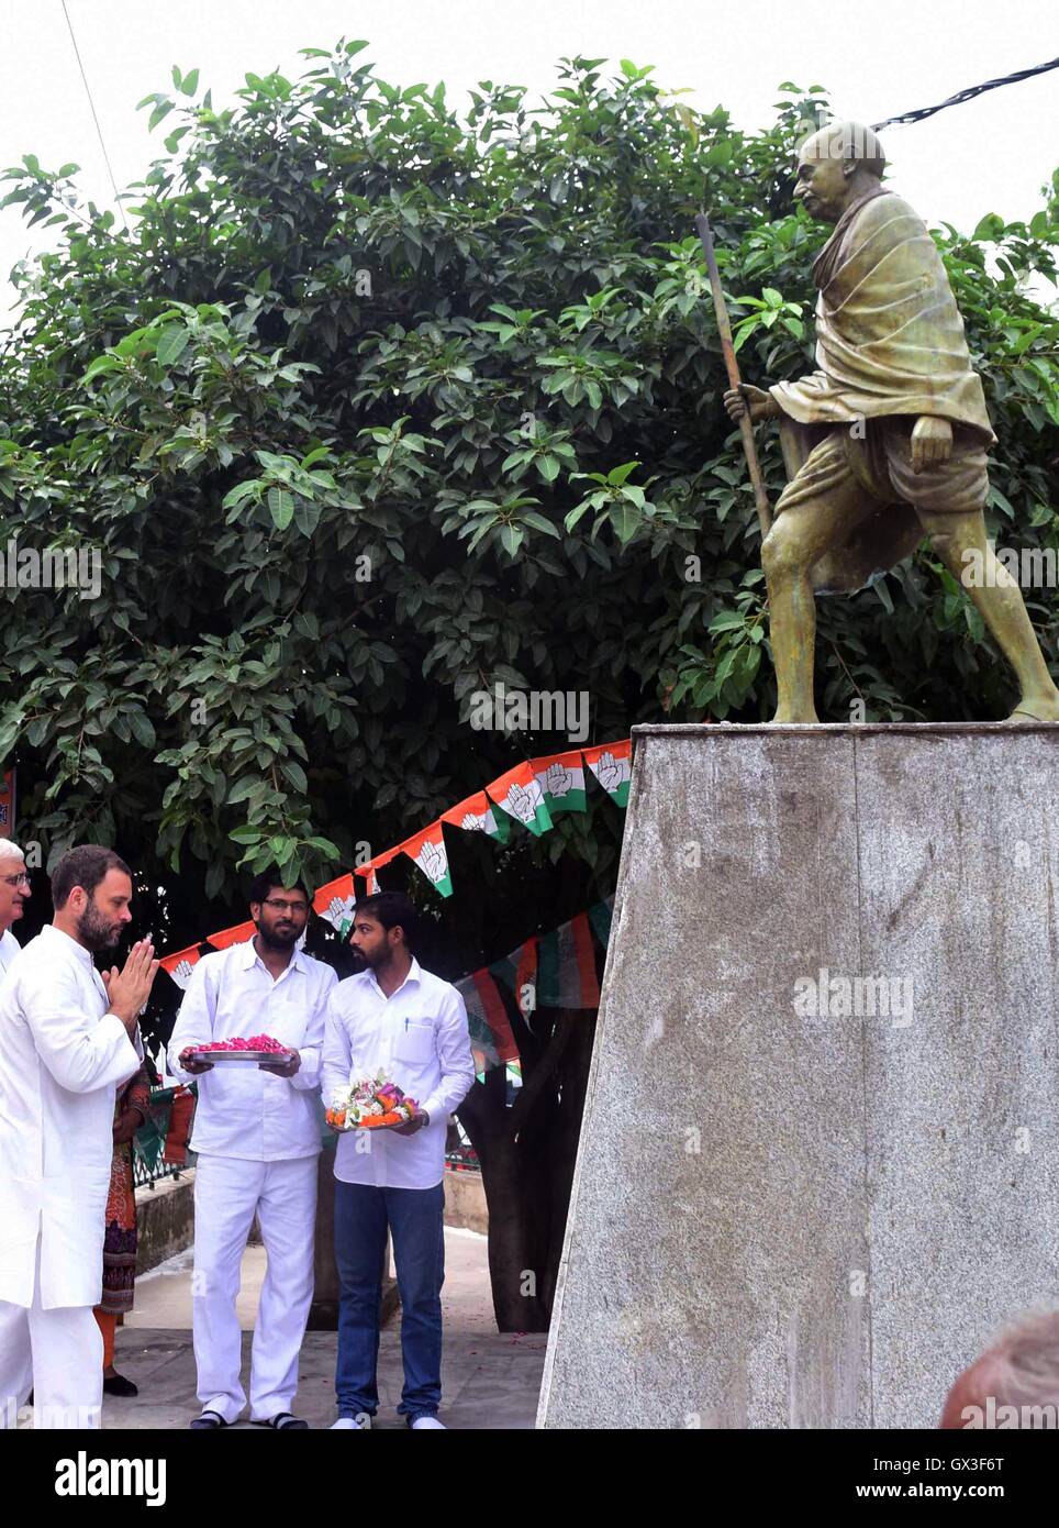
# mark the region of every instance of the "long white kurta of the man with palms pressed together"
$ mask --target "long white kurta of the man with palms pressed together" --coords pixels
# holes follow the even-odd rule
[[[140,1057],[92,955],[47,924],[0,986],[0,1300],[95,1305],[114,1089]]]

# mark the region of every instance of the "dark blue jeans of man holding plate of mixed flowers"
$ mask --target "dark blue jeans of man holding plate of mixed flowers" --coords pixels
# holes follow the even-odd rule
[[[378,1302],[386,1225],[394,1238],[401,1296],[404,1389],[397,1407],[409,1421],[441,1404],[441,1285],[446,1277],[446,1190],[334,1184],[334,1261],[339,1268],[339,1416],[378,1410]]]

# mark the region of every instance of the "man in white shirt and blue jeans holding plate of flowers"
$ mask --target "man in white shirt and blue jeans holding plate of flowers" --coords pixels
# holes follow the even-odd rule
[[[449,1114],[475,1082],[464,999],[412,957],[415,909],[381,891],[357,903],[349,943],[368,970],[340,981],[327,1005],[323,1102],[385,1073],[418,1103],[407,1125],[348,1131],[334,1160],[339,1358],[334,1429],[359,1429],[378,1409],[378,1300],[386,1229],[401,1296],[401,1412],[441,1429],[441,1285]],[[368,1423],[368,1426],[371,1426]]]

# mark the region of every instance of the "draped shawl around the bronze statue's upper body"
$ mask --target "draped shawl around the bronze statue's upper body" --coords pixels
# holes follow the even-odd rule
[[[813,280],[819,371],[771,388],[784,414],[800,425],[934,414],[995,443],[942,257],[906,202],[877,186],[847,208]]]

